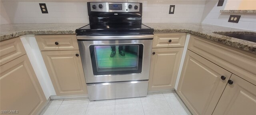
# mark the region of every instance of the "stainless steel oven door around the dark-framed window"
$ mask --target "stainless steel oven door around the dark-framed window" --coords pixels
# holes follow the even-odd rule
[[[79,40],[86,83],[147,80],[152,40]]]

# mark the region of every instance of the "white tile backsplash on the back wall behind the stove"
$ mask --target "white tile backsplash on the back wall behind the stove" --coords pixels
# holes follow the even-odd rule
[[[142,2],[143,23],[200,23],[204,0],[1,0],[1,24],[88,23],[86,2]],[[46,3],[42,14],[39,3]],[[170,5],[175,13],[169,14]]]

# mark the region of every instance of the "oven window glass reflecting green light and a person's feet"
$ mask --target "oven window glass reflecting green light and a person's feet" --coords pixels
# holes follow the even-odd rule
[[[90,46],[94,75],[141,73],[142,44]]]

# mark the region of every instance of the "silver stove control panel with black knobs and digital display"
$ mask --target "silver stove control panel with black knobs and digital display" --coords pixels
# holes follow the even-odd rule
[[[92,12],[140,12],[140,3],[90,2]]]

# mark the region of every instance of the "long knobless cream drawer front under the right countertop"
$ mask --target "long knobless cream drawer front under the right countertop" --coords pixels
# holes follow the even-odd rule
[[[256,85],[256,54],[197,36],[190,36],[188,49]]]

